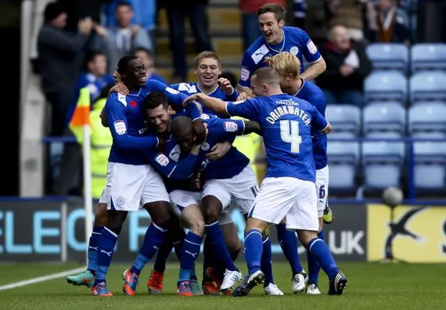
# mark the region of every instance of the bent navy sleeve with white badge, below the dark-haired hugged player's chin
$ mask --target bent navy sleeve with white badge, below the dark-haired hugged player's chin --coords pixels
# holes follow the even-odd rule
[[[162,173],[162,175],[171,178],[172,180],[185,180],[189,178],[197,163],[198,155],[192,153],[187,154],[178,163],[170,160],[167,155],[158,153],[156,150],[151,150],[148,153],[148,162],[154,169]]]

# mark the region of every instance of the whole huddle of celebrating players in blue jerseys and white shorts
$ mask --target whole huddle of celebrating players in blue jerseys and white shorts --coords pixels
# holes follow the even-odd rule
[[[243,56],[240,93],[219,78],[222,66],[214,52],[197,56],[197,83],[171,86],[147,79],[137,57],[119,61],[118,84],[102,113],[113,137],[107,186],[89,240],[87,270],[67,277],[68,283],[112,296],[106,274],[118,235],[128,212],[144,208],[152,222],[132,267],[123,272],[125,295],[136,294],[139,274],[155,254],[148,292],[161,294],[172,249],[180,261],[178,295],[243,296],[259,284],[266,295],[284,295],[272,277],[272,223],[291,265],[293,293],[321,294],[322,269],[330,281],[328,294],[342,294],[347,280],[322,229],[331,221],[325,134],[332,127],[324,117],[323,92],[305,82],[321,74],[325,62],[305,31],[284,26],[281,6],[266,4],[257,16],[263,36]],[[300,74],[302,55],[312,65]],[[249,159],[231,145],[237,135],[252,132],[263,137],[266,150],[260,187]],[[245,277],[234,264],[242,246],[231,205],[247,219]],[[300,265],[295,232],[307,249],[308,274]],[[203,241],[200,286],[195,261]]]

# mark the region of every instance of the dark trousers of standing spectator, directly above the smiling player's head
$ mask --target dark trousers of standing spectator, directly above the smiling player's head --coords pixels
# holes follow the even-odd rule
[[[169,20],[169,39],[174,54],[174,77],[172,84],[184,82],[187,78],[185,18],[189,17],[195,38],[195,52],[213,51],[208,31],[206,8],[208,0],[166,0],[165,8]]]

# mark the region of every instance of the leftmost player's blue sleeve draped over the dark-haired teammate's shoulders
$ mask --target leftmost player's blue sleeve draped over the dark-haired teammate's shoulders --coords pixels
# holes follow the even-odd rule
[[[164,93],[175,111],[183,111],[183,101],[187,98],[187,95],[180,93],[176,89],[154,79],[150,79],[146,83],[146,86],[148,86],[151,91],[159,91],[160,93]],[[187,115],[192,118],[192,121],[201,118],[201,112],[196,104],[187,105],[185,110]]]

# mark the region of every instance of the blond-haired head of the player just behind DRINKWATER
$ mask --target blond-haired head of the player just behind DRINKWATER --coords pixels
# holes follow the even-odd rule
[[[282,52],[268,59],[270,67],[280,75],[280,88],[286,91],[293,88],[299,79],[300,61],[290,52]]]

